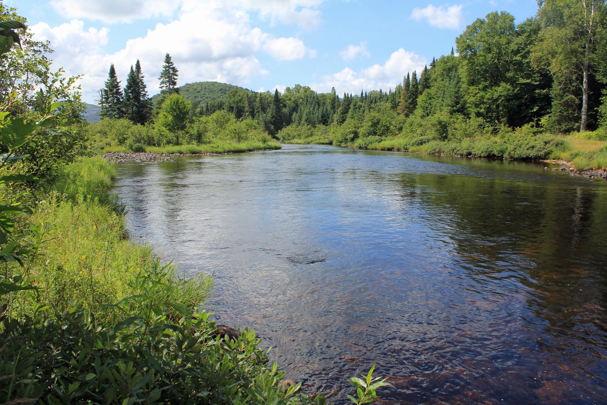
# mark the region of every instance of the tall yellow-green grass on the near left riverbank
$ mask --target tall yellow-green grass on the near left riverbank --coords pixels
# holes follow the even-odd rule
[[[150,246],[129,240],[124,216],[108,194],[115,174],[104,159],[84,158],[61,168],[55,181],[44,185],[30,226],[22,231],[24,247],[30,241],[41,243],[25,268],[10,268],[37,289],[13,294],[12,314],[29,313],[32,302],[59,309],[80,303],[100,325],[123,319],[124,308],[114,304],[139,293],[135,279],[157,266],[157,257]],[[180,280],[174,266],[167,266],[163,277],[169,284]],[[200,275],[156,298],[195,308],[205,302],[211,286],[212,280]]]

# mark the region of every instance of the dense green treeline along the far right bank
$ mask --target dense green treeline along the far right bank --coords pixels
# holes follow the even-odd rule
[[[523,125],[551,133],[597,130],[607,119],[605,16],[604,2],[581,0],[543,2],[535,18],[520,24],[509,13],[493,12],[466,27],[456,49],[419,75],[407,73],[394,89],[341,99],[334,88],[319,94],[299,85],[282,95],[231,91],[225,102],[206,103],[198,113],[225,109],[257,120],[271,134],[290,125],[350,120],[361,128],[377,118],[373,112],[396,119],[354,138],[399,134],[409,119],[473,120],[494,134]],[[443,126],[438,132],[446,139],[449,125]]]

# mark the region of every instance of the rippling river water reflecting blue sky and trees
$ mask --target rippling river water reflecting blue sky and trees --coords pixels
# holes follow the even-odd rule
[[[607,181],[543,166],[285,145],[115,192],[309,391],[376,364],[383,403],[606,403]]]

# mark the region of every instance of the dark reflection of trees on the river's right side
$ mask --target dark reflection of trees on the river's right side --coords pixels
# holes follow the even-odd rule
[[[485,288],[504,288],[513,302],[524,303],[521,334],[529,339],[530,358],[605,373],[607,211],[601,190],[473,176],[404,175],[399,182],[407,204],[425,204],[432,221],[454,230],[445,237],[454,242],[456,272],[489,280]],[[490,278],[501,272],[506,281]],[[531,342],[534,336],[546,344]],[[584,365],[580,358],[587,359]]]

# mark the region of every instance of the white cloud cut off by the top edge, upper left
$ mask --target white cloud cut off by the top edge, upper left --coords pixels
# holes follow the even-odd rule
[[[114,24],[134,19],[171,16],[178,0],[52,0],[50,4],[67,18],[86,18]]]

